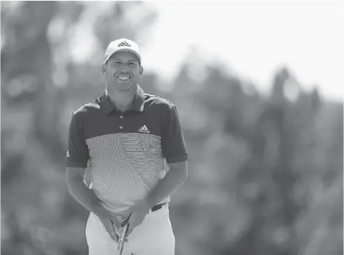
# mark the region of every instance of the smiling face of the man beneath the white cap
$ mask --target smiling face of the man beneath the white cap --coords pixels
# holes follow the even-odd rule
[[[129,92],[136,89],[143,72],[136,55],[131,52],[117,52],[103,64],[103,75],[108,89]]]

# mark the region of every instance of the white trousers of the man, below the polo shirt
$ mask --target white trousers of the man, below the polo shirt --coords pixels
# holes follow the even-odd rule
[[[118,255],[117,242],[110,238],[100,219],[89,214],[86,226],[89,255]],[[169,210],[160,210],[146,215],[142,224],[133,229],[124,243],[122,255],[174,255],[174,234]]]

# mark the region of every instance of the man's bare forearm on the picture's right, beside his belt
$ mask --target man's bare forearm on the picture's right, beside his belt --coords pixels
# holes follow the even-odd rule
[[[188,177],[187,161],[173,163],[170,171],[161,179],[147,196],[147,203],[153,207],[170,196],[183,184]]]

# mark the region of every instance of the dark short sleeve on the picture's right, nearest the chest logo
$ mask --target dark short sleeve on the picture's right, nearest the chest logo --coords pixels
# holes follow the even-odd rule
[[[161,132],[161,148],[167,163],[188,160],[183,132],[177,108],[173,106],[163,115],[163,131]]]

